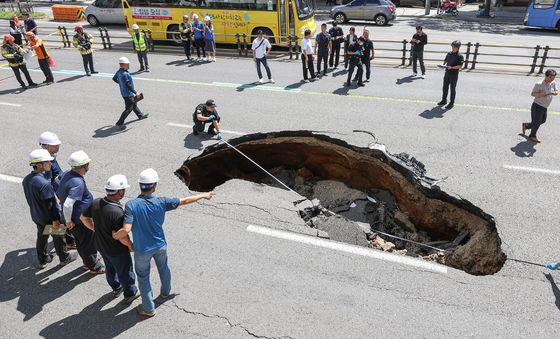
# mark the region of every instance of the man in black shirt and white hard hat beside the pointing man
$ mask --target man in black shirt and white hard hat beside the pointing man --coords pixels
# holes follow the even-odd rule
[[[80,217],[94,233],[95,246],[105,262],[105,277],[113,289],[113,298],[124,294],[127,303],[140,296],[134,285],[136,276],[130,256],[132,242],[128,236],[115,240],[112,233],[122,228],[124,211],[120,201],[129,187],[124,175],[113,175],[105,184],[105,198],[93,200]]]

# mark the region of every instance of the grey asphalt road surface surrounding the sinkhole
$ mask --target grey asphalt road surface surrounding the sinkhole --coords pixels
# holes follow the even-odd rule
[[[545,264],[558,259],[559,99],[539,131],[542,143],[518,135],[539,78],[464,72],[455,108],[442,111],[435,104],[443,73],[435,68],[413,80],[410,69],[375,66],[366,87],[347,89],[342,71],[302,84],[300,62],[272,62],[276,84],[256,86],[247,59],[218,55],[193,65],[152,54],[152,72],[135,76],[150,117],[117,132],[111,126],[123,100],[110,78],[123,54],[95,53],[101,73],[85,77],[77,51],[52,52],[58,66],[50,86],[20,91],[11,70],[0,67],[2,337],[557,337],[556,272],[549,281],[546,268],[508,260],[492,276],[434,273],[248,232],[249,225],[286,230],[303,221],[289,192],[240,180],[217,187],[211,201],[167,214],[175,297],[143,319],[134,310],[139,301],[126,307],[112,300],[104,277],[90,277],[79,262],[35,268],[35,226],[18,182],[38,135],[50,130],[62,139],[65,169],[75,150],[93,159],[86,180],[97,197],[109,176],[134,183],[148,167],[160,174],[159,195],[186,196],[173,172],[217,141],[185,126],[194,107],[213,98],[226,138],[307,129],[365,146],[371,139],[351,131],[370,130],[391,152],[424,162],[428,175],[449,176],[442,189],[493,215],[510,259]],[[40,82],[37,67],[33,60]],[[126,199],[138,193],[132,185]],[[157,295],[155,269],[152,284]]]

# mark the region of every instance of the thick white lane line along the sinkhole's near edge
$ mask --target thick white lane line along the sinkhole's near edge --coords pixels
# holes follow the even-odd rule
[[[367,247],[344,244],[344,243],[340,243],[340,242],[333,241],[333,240],[316,238],[316,237],[312,237],[312,236],[308,236],[308,235],[303,235],[303,234],[298,234],[298,233],[293,233],[293,232],[287,232],[287,231],[281,231],[281,230],[275,230],[275,229],[268,228],[268,227],[261,227],[261,226],[254,226],[254,225],[247,226],[247,232],[253,232],[253,233],[258,233],[258,234],[262,234],[262,235],[268,235],[268,236],[271,236],[271,237],[284,239],[284,240],[297,241],[297,242],[301,242],[301,243],[307,244],[307,245],[324,247],[324,248],[332,249],[332,250],[335,250],[335,251],[341,251],[341,252],[361,255],[361,256],[364,256],[364,257],[370,257],[370,258],[375,258],[375,259],[380,259],[380,260],[391,261],[391,262],[395,262],[397,264],[414,266],[414,267],[430,270],[430,271],[437,272],[437,273],[447,274],[447,267],[446,266],[431,263],[431,262],[427,262],[427,261],[424,261],[422,259],[406,257],[406,256],[393,254],[393,253],[382,252],[382,251],[374,250],[374,249],[367,248]]]

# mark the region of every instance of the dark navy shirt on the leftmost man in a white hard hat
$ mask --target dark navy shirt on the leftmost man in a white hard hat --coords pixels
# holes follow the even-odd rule
[[[54,198],[51,182],[43,173],[29,173],[23,179],[23,192],[34,223],[44,226],[52,222],[46,200]]]

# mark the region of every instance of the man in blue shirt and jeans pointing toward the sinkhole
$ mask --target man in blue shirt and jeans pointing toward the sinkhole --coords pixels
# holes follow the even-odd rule
[[[159,176],[148,168],[140,173],[138,183],[141,194],[125,205],[123,228],[113,234],[113,238],[122,239],[132,230],[134,239],[134,267],[138,276],[138,287],[142,295],[142,305],[138,313],[146,317],[156,314],[150,285],[150,261],[154,258],[161,280],[160,297],[166,299],[171,294],[171,271],[167,265],[167,242],[163,233],[165,213],[179,206],[200,199],[210,199],[212,192],[193,195],[188,198],[156,197]]]

